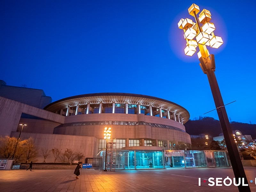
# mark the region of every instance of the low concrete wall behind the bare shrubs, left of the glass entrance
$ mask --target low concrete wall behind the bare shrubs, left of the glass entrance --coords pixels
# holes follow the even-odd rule
[[[19,132],[12,132],[13,137],[18,137]],[[37,157],[38,163],[42,163],[44,158],[41,153],[41,148],[52,149],[58,148],[64,152],[67,148],[74,151],[81,151],[84,153],[85,157],[95,157],[94,155],[98,153],[98,143],[99,141],[95,137],[88,136],[76,136],[76,135],[56,135],[56,134],[40,134],[40,133],[21,133],[20,138],[22,140],[32,137],[35,141],[36,148],[38,148],[39,156]],[[94,149],[97,151],[94,151]],[[46,162],[54,162],[53,154],[47,157]],[[60,162],[60,160],[58,160]]]

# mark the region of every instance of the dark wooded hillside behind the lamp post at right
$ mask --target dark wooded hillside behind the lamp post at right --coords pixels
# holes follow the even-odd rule
[[[231,122],[232,130],[239,130],[244,135],[252,135],[252,139],[256,139],[256,124],[247,124],[239,122]],[[198,120],[190,120],[184,124],[186,132],[190,135],[199,135],[207,133],[213,137],[219,136],[222,133],[220,122],[212,117],[201,117]]]

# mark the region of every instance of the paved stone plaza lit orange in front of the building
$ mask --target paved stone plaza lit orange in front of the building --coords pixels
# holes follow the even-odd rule
[[[251,191],[256,191],[256,167],[244,167]],[[208,186],[209,177],[229,176],[231,167],[168,168],[164,170],[128,170],[103,172],[94,169],[80,170],[75,179],[74,170],[0,170],[0,192],[235,192],[237,187]],[[198,177],[202,178],[198,186]],[[206,180],[204,183],[203,180]],[[253,180],[250,183],[250,180]]]

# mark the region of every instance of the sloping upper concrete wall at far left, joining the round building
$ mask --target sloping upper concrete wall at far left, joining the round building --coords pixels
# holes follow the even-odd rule
[[[63,124],[65,120],[65,116],[0,97],[0,136],[10,136],[12,131],[17,131],[22,113],[60,124]]]

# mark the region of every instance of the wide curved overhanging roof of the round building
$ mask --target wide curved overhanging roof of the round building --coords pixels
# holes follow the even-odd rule
[[[187,122],[189,119],[189,113],[187,109],[181,107],[180,105],[173,103],[172,101],[164,100],[157,97],[152,97],[148,95],[140,95],[133,93],[90,93],[83,95],[76,95],[72,97],[67,97],[61,100],[50,103],[45,110],[56,112],[60,109],[72,107],[76,105],[85,105],[87,103],[129,103],[129,104],[141,104],[141,105],[151,105],[152,107],[162,108],[175,112],[183,118],[183,122]]]

